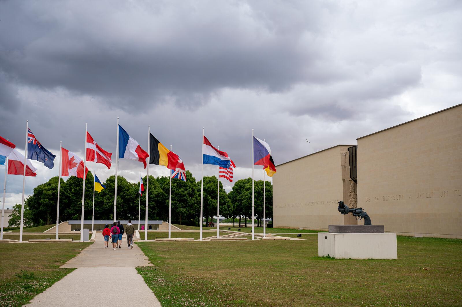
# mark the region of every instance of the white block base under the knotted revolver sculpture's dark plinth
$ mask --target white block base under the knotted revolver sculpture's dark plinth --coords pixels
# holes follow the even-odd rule
[[[319,257],[336,259],[398,259],[396,234],[318,233]]]

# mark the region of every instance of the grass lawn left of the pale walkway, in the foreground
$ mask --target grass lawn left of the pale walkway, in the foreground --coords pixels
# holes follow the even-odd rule
[[[59,267],[89,244],[1,243],[0,306],[22,306],[72,272]]]

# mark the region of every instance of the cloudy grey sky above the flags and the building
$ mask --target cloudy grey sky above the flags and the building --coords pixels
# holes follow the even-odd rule
[[[81,154],[87,122],[115,152],[120,117],[200,179],[205,127],[245,178],[252,129],[280,164],[461,103],[461,29],[457,0],[0,1],[0,135],[24,152],[29,120],[48,150]],[[58,173],[33,164],[26,194]],[[119,169],[135,182],[142,164]],[[6,207],[21,191],[8,176]]]

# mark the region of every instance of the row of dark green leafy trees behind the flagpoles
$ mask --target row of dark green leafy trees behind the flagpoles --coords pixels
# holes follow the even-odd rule
[[[93,175],[88,172],[85,181],[84,219],[91,220],[93,206]],[[112,220],[114,213],[115,175],[103,182],[106,186],[100,193],[95,192],[95,220]],[[172,179],[171,219],[172,223],[183,225],[199,225],[201,210],[201,181],[196,181],[189,170],[187,181]],[[146,176],[143,178],[146,189]],[[83,179],[75,176],[67,181],[61,178],[59,221],[80,220],[82,212]],[[225,218],[241,218],[244,225],[252,217],[252,179],[246,178],[234,183],[232,190],[226,193],[223,184],[219,183],[220,216]],[[273,217],[273,187],[266,181],[266,217]],[[127,181],[117,176],[117,219],[138,220],[139,191],[138,183]],[[204,176],[203,186],[204,222],[217,215],[217,177]],[[255,219],[261,225],[263,218],[263,181],[255,181]],[[56,222],[56,203],[58,199],[58,177],[34,188],[34,193],[24,203],[24,225],[41,226]],[[141,196],[141,220],[145,220],[146,191]],[[169,212],[169,177],[149,176],[148,220],[168,221]],[[21,205],[13,206],[10,226],[19,226]]]

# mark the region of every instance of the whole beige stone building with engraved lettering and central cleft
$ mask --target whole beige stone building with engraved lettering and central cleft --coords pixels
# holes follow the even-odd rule
[[[462,239],[462,104],[357,140],[277,165],[274,227],[363,224],[343,200],[386,232]]]

